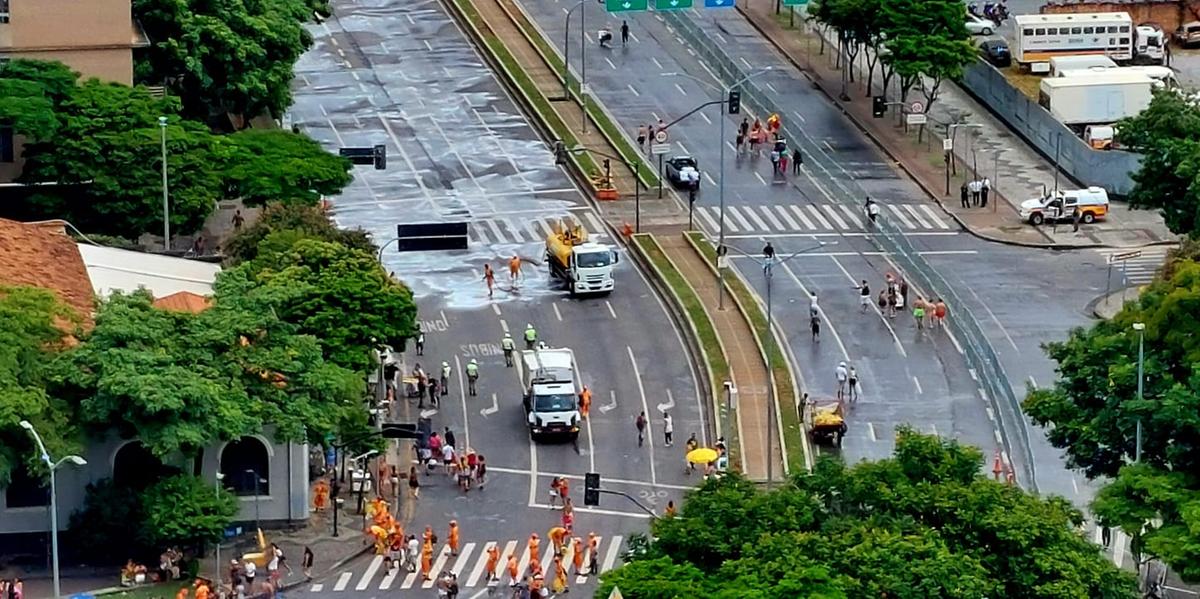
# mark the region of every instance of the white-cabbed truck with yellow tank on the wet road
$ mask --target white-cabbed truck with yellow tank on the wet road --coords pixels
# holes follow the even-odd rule
[[[566,283],[571,295],[583,293],[612,293],[614,280],[612,268],[617,264],[617,251],[590,241],[582,224],[563,218],[551,226],[546,236],[546,263],[550,276]]]

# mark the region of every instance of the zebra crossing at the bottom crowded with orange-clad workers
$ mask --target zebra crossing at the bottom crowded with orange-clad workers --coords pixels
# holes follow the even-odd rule
[[[599,550],[596,551],[596,556],[584,556],[584,568],[592,563],[592,559],[595,559],[599,564],[599,571],[608,571],[614,568],[617,565],[618,556],[620,555],[623,541],[624,539],[619,534],[614,534],[612,537],[599,537]],[[442,545],[442,547],[434,552],[437,557],[433,561],[433,567],[430,569],[431,575],[436,577],[438,573],[449,570],[458,575],[458,586],[461,588],[487,586],[487,576],[485,576],[485,570],[487,569],[487,551],[493,546],[500,546],[500,559],[497,563],[496,574],[502,580],[505,582],[508,581],[505,564],[509,561],[509,556],[517,556],[517,569],[520,571],[526,573],[528,570],[529,546],[526,544],[526,540],[522,539],[508,541],[466,543],[458,549],[457,556],[450,553],[449,545]],[[563,563],[571,564],[574,562],[574,557],[575,550],[571,544],[568,543],[563,555]],[[547,539],[544,543],[541,551],[541,570],[544,573],[551,573],[551,563],[553,561],[554,551],[550,547]],[[574,568],[569,567],[568,571],[574,571]],[[358,579],[355,579],[355,576],[358,576]],[[575,576],[574,583],[583,585],[588,582],[588,576]],[[374,556],[366,563],[366,568],[361,571],[361,574],[355,570],[346,570],[338,573],[336,576],[330,576],[329,580],[324,582],[313,582],[308,587],[308,591],[311,593],[341,593],[348,591],[367,591],[373,588],[379,591],[389,591],[391,588],[433,588],[433,580],[424,580],[420,571],[408,571],[403,568],[391,568],[390,570],[384,571],[383,556]]]

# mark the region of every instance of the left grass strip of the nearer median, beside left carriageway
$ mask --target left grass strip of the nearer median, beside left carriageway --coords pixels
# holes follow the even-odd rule
[[[713,384],[713,397],[716,401],[714,409],[719,411],[719,418],[724,423],[721,432],[725,435],[726,445],[730,448],[730,461],[740,467],[742,456],[738,455],[740,445],[738,444],[738,427],[736,425],[737,413],[736,409],[725,408],[724,389],[721,388],[721,382],[730,379],[730,363],[726,360],[725,348],[721,347],[721,341],[716,336],[716,328],[713,327],[713,321],[709,319],[708,312],[704,311],[704,305],[700,301],[696,289],[676,269],[674,263],[667,258],[667,254],[659,246],[659,242],[654,240],[654,236],[648,233],[637,234],[634,235],[634,242],[637,244],[642,254],[654,266],[659,278],[671,288],[672,295],[680,304],[679,307],[683,309],[688,321],[691,322],[700,346],[704,349],[704,358],[708,360],[709,379]]]

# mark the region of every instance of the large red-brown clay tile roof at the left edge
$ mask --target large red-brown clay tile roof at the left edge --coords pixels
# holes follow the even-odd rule
[[[0,218],[0,284],[49,289],[91,325],[96,310],[91,278],[61,222]]]

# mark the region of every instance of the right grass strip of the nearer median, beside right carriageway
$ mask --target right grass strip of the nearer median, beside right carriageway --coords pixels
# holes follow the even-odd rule
[[[688,234],[700,247],[701,253],[709,264],[716,265],[716,248],[708,242],[702,233],[692,232]],[[775,336],[767,330],[767,315],[763,312],[754,292],[746,287],[739,276],[726,276],[725,284],[730,293],[737,298],[750,318],[758,339],[762,340],[763,348],[770,357],[770,370],[775,378],[775,413],[784,429],[784,448],[787,451],[787,463],[792,472],[800,472],[806,466],[804,461],[804,424],[800,423],[800,414],[796,411],[796,393],[792,389],[792,372],[787,369],[787,358],[775,343]]]

